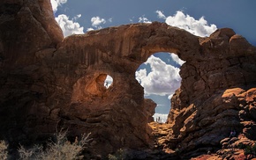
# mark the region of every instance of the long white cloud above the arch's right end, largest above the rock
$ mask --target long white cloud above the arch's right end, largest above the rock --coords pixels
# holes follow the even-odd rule
[[[162,11],[156,11],[159,18],[164,18]],[[211,33],[214,33],[217,29],[216,25],[207,24],[207,20],[201,17],[199,20],[192,18],[190,15],[184,15],[182,11],[177,11],[174,16],[169,16],[165,18],[165,23],[172,26],[177,26],[182,28],[194,35],[206,37]]]

